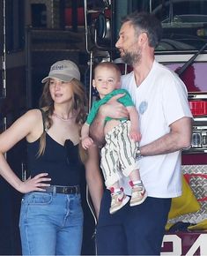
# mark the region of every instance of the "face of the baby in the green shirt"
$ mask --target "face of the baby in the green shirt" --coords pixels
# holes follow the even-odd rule
[[[92,80],[92,86],[97,89],[100,98],[103,98],[120,87],[120,75],[115,68],[98,67]]]

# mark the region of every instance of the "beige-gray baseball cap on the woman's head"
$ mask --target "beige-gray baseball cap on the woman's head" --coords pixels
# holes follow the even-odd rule
[[[45,83],[48,79],[61,79],[64,82],[70,82],[72,79],[80,80],[80,72],[77,64],[70,60],[61,60],[51,66],[48,77],[41,82]]]

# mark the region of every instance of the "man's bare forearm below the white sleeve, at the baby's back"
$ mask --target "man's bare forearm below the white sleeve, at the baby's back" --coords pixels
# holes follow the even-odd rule
[[[170,125],[171,131],[152,143],[140,147],[144,156],[168,154],[190,147],[192,134],[192,118],[182,117]]]

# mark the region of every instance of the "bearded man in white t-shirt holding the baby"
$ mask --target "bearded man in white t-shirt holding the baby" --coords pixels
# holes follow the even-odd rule
[[[192,115],[181,79],[156,62],[154,49],[162,27],[149,13],[131,13],[122,20],[116,47],[133,72],[122,76],[139,112],[142,139],[137,151],[148,197],[137,207],[109,215],[110,192],[103,195],[97,227],[98,254],[159,255],[171,199],[181,195],[181,149],[191,142]],[[122,95],[119,95],[122,96]],[[101,141],[105,117],[124,117],[115,100],[100,108],[92,138]],[[128,182],[122,178],[127,192]]]

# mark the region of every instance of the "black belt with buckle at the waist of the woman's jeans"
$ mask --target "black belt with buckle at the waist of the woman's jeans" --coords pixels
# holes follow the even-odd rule
[[[80,187],[78,185],[73,186],[60,186],[60,185],[50,185],[43,187],[45,192],[54,192],[62,194],[78,194],[80,192]]]

